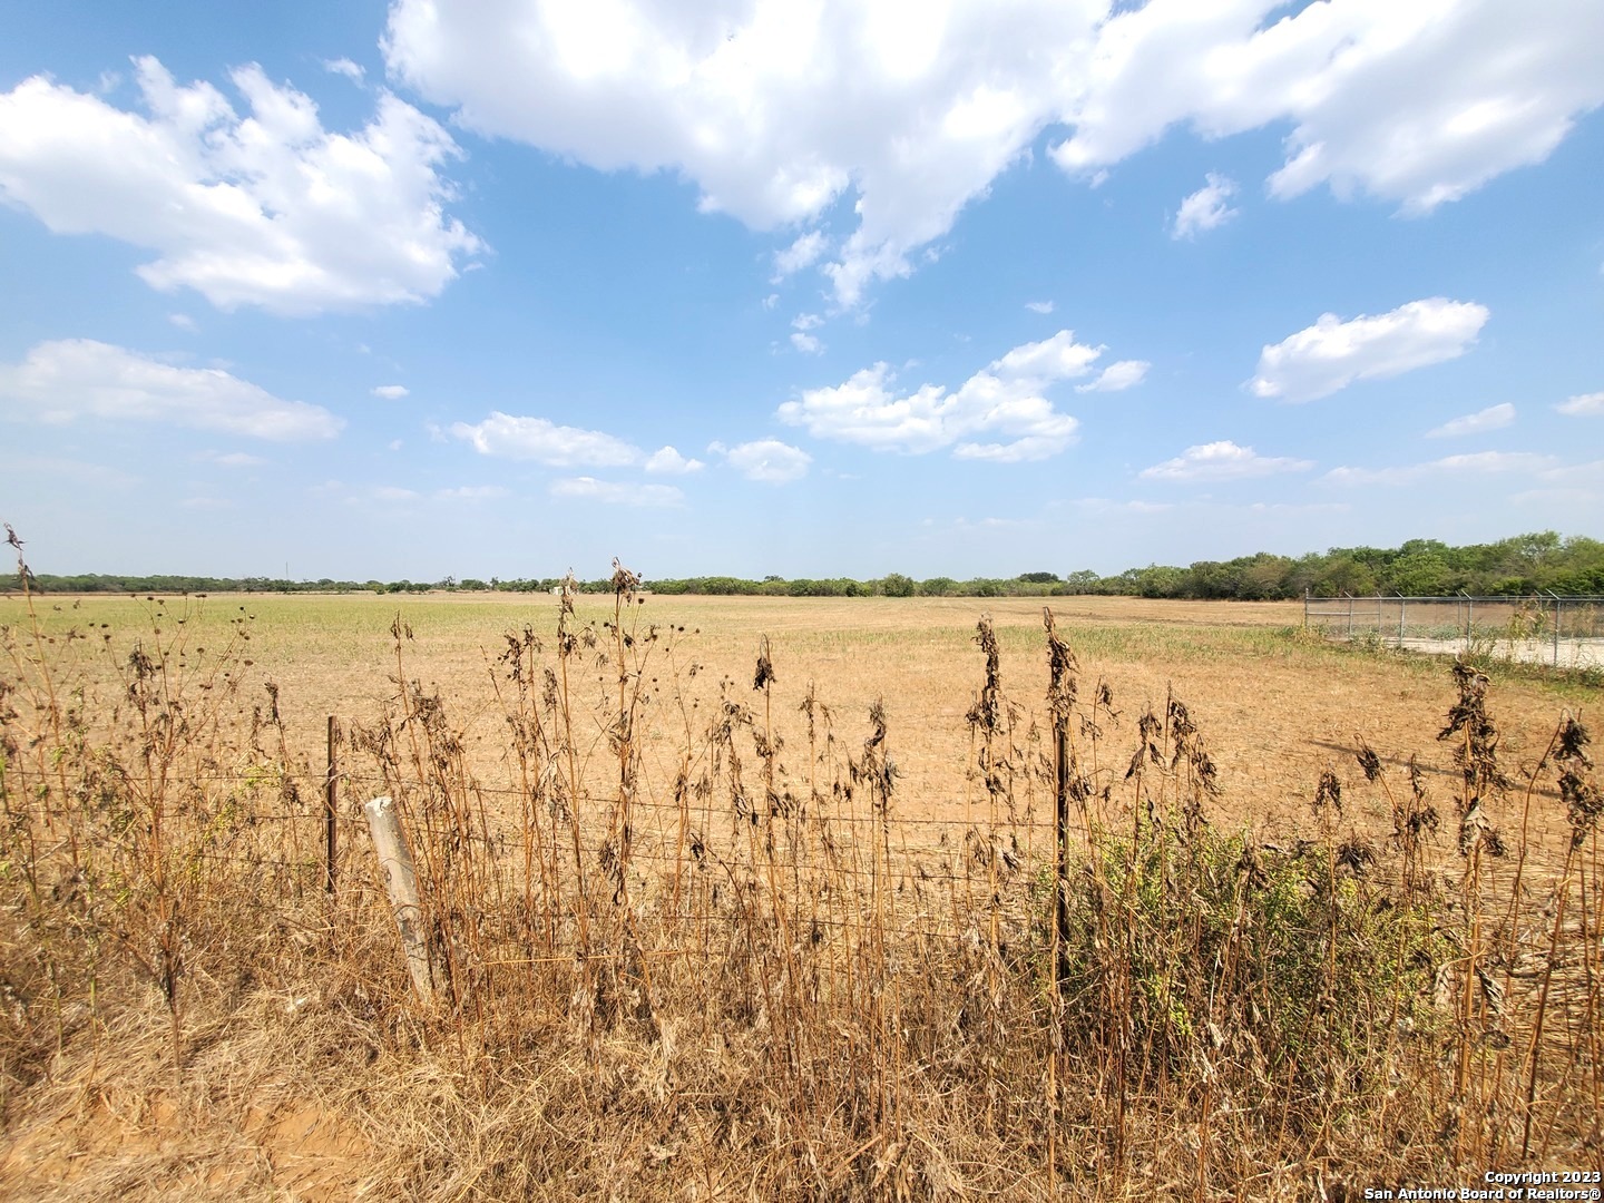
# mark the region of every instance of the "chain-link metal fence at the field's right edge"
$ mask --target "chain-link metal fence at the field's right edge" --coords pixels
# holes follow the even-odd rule
[[[1412,651],[1480,653],[1556,667],[1604,667],[1604,595],[1312,597],[1304,627]]]

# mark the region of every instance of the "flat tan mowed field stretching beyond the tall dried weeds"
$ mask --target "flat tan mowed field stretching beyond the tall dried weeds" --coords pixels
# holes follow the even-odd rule
[[[1118,597],[1063,598],[765,598],[645,595],[626,627],[642,650],[648,703],[643,783],[648,794],[666,789],[685,743],[687,723],[699,735],[720,696],[757,706],[752,678],[762,640],[768,640],[775,682],[770,717],[784,739],[784,768],[802,773],[799,749],[807,728],[800,706],[808,690],[829,707],[837,744],[852,752],[868,731],[868,711],[884,701],[889,747],[898,767],[897,815],[962,823],[974,805],[969,780],[967,714],[983,683],[985,662],[975,643],[977,624],[990,616],[1001,648],[1003,690],[1017,714],[1017,739],[1030,728],[1044,736],[1047,687],[1043,606],[1051,606],[1059,634],[1079,662],[1084,696],[1105,682],[1115,722],[1105,723],[1105,747],[1128,755],[1144,707],[1163,712],[1166,698],[1181,698],[1201,730],[1219,767],[1221,794],[1214,818],[1251,826],[1264,839],[1306,829],[1307,802],[1327,768],[1344,781],[1360,780],[1355,736],[1368,741],[1383,764],[1402,767],[1416,755],[1447,802],[1453,788],[1452,747],[1437,741],[1455,696],[1452,658],[1376,653],[1328,645],[1299,632],[1302,606],[1285,603],[1160,602]],[[611,597],[576,600],[581,627],[614,616]],[[165,613],[165,618],[162,614]],[[242,699],[266,703],[265,685],[279,688],[292,754],[322,767],[329,715],[342,723],[377,719],[398,698],[396,677],[438,691],[449,723],[460,730],[480,781],[508,784],[512,767],[504,738],[507,690],[499,656],[507,635],[531,627],[552,654],[558,600],[545,595],[217,595],[204,600],[82,597],[43,598],[42,619],[56,632],[104,632],[125,654],[152,627],[165,637],[184,618],[189,648],[217,651],[244,619],[250,666]],[[22,605],[0,600],[0,622],[16,624]],[[396,621],[411,629],[399,642]],[[658,640],[648,642],[656,627]],[[606,747],[602,717],[616,698],[616,675],[595,656],[576,664],[593,667],[576,683],[595,698],[593,714],[579,727],[581,755],[595,762],[605,788]],[[77,645],[90,661],[98,640]],[[111,659],[115,659],[112,656]],[[192,664],[204,658],[191,658]],[[109,661],[107,661],[109,666]],[[1598,690],[1577,680],[1545,680],[1533,672],[1493,670],[1490,709],[1501,731],[1506,772],[1535,764],[1569,707],[1585,712]],[[683,707],[682,707],[683,703]],[[1585,717],[1585,715],[1583,715]],[[589,736],[589,738],[587,738]],[[661,752],[661,755],[654,755]],[[1046,743],[1043,743],[1046,751]],[[1371,834],[1387,831],[1378,799],[1354,799],[1351,818]],[[1041,813],[1036,821],[1051,821]],[[1540,824],[1562,813],[1538,812]],[[1556,828],[1557,829],[1557,828]]]

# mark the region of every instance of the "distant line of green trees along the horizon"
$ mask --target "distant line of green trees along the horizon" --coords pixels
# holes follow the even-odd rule
[[[765,576],[749,581],[736,576],[693,576],[648,581],[656,593],[699,593],[741,597],[1067,597],[1107,593],[1120,597],[1225,598],[1270,602],[1302,597],[1367,597],[1402,593],[1436,597],[1517,595],[1553,590],[1556,593],[1604,593],[1604,542],[1583,536],[1561,537],[1553,531],[1517,534],[1493,544],[1450,547],[1436,539],[1410,539],[1402,547],[1333,547],[1296,560],[1285,555],[1245,555],[1237,560],[1198,560],[1187,568],[1148,565],[1128,568],[1118,576],[1089,569],[1059,576],[1022,573],[1012,577],[972,577],[956,581],[935,576],[914,581],[901,573],[855,581],[845,576],[821,579]],[[561,577],[448,576],[443,581],[282,581],[265,576],[48,576],[32,577],[32,585],[51,593],[423,593],[423,592],[515,592],[549,593]],[[585,593],[608,593],[610,577],[581,581]]]

